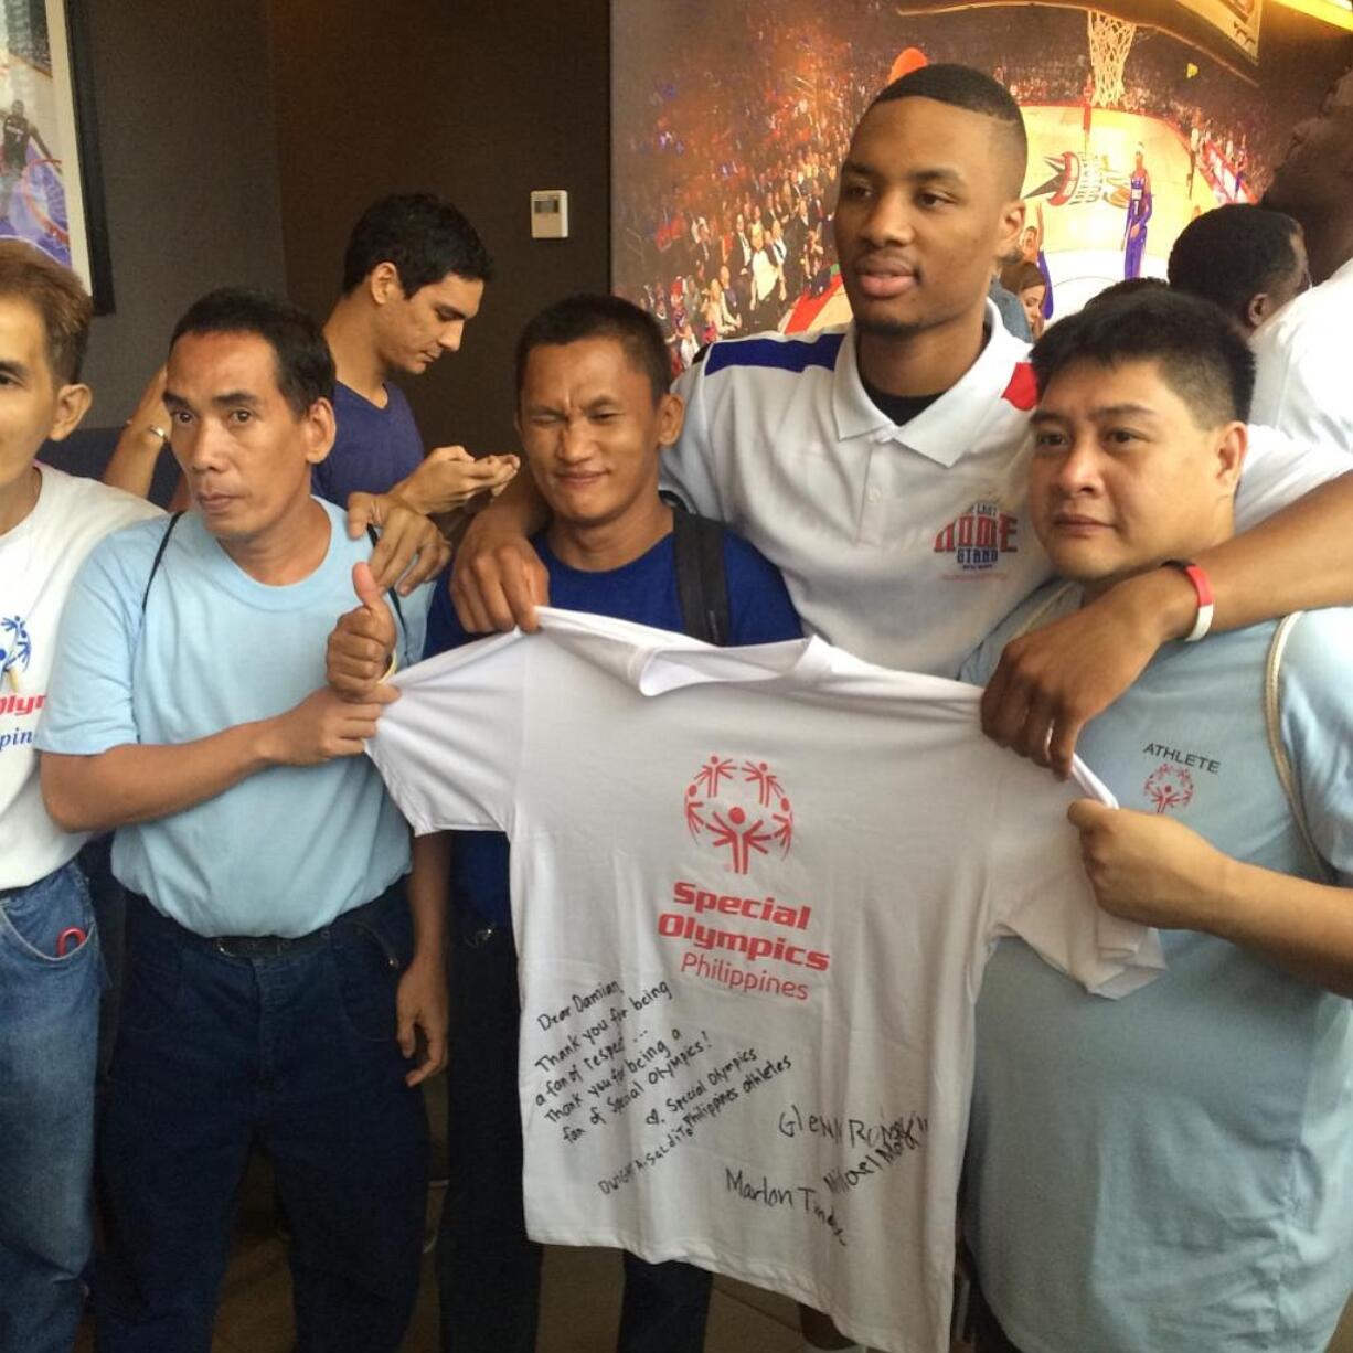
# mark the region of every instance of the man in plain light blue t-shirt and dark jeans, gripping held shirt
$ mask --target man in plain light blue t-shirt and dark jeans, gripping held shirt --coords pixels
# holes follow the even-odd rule
[[[310,494],[333,441],[318,325],[221,291],[180,319],[165,403],[193,510],[100,543],[72,589],[42,785],[116,829],[129,973],[100,1153],[99,1348],[207,1349],[250,1145],[294,1230],[302,1349],[399,1346],[418,1285],[442,1059],[442,898],[406,896],[409,831],[323,685],[369,543]],[[399,603],[422,644],[428,589]],[[428,1040],[415,1068],[415,1027]]]

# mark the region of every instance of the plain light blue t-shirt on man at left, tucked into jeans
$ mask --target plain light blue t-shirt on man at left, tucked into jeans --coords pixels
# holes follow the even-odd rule
[[[115,532],[85,560],[61,625],[42,751],[187,743],[281,714],[325,683],[325,640],[371,553],[325,503],[329,551],[306,579],[245,574],[183,517],[142,616],[166,522]],[[422,652],[430,587],[400,598],[402,662]],[[304,935],[409,870],[409,828],[365,756],[276,766],[202,804],[118,829],[116,877],[200,935]]]

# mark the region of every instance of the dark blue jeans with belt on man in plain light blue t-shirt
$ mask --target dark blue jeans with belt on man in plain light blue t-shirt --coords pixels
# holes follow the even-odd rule
[[[100,1353],[207,1353],[250,1146],[292,1230],[298,1353],[399,1346],[428,1188],[395,989],[403,888],[304,947],[231,957],[127,900],[127,973],[99,1158],[110,1204]]]

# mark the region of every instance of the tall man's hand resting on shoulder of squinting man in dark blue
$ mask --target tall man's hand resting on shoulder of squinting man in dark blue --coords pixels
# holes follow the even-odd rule
[[[549,601],[549,575],[530,537],[548,521],[536,480],[517,475],[469,522],[451,570],[451,598],[469,633],[536,629],[536,607]]]

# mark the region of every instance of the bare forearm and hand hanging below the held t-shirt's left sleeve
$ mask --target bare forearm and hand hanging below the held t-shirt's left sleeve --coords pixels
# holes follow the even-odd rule
[[[409,875],[409,909],[414,923],[414,957],[399,978],[395,997],[399,1050],[413,1057],[417,1031],[425,1040],[422,1061],[406,1076],[418,1085],[446,1065],[446,893],[451,879],[451,835],[415,836]]]

